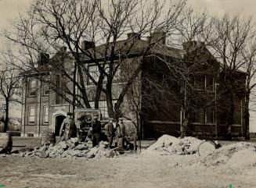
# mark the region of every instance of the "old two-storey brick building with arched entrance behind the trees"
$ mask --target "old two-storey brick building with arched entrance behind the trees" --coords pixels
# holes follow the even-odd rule
[[[158,36],[159,35],[155,35]],[[152,35],[152,37],[155,37]],[[128,36],[129,37],[129,36]],[[123,46],[127,41],[117,41],[117,46]],[[84,43],[84,48],[90,43]],[[139,40],[135,41],[134,47],[132,47],[132,52],[127,57],[127,59],[136,65],[137,60],[141,56],[141,51],[145,50],[147,41]],[[222,87],[222,66],[217,62],[211,55],[207,48],[203,45],[203,52],[200,54],[193,53],[193,48],[197,47],[198,43],[193,42],[191,45],[184,45],[183,49],[170,48],[165,45],[164,35],[160,35],[160,44],[156,44],[153,48],[150,48],[148,52],[148,57],[142,62],[142,69],[139,73],[138,79],[141,80],[141,91],[143,94],[149,94],[147,90],[149,89],[148,83],[144,80],[145,77],[151,80],[156,80],[161,82],[164,80],[165,76],[169,77],[170,71],[166,64],[161,59],[155,57],[164,57],[164,59],[169,59],[175,61],[177,59],[187,59],[187,63],[193,62],[193,65],[200,64],[200,66],[195,66],[190,70],[192,75],[191,84],[193,88],[197,90],[197,101],[204,103],[204,108],[198,108],[193,112],[191,117],[191,133],[198,137],[222,137],[225,132],[225,116],[227,109],[225,108],[225,95],[221,94],[219,91]],[[96,47],[97,51],[104,48],[104,44]],[[47,66],[51,63],[58,62],[59,53],[65,53],[66,48],[60,49],[60,51],[54,55],[51,59],[49,55],[41,54],[38,61],[37,71],[28,70],[23,75],[23,108],[22,108],[22,135],[23,136],[39,136],[43,131],[49,130],[54,133],[59,133],[59,126],[65,118],[67,112],[73,111],[73,106],[68,104],[67,101],[63,100],[59,94],[56,94],[54,90],[51,90],[49,85],[46,84],[47,80],[53,81],[63,87],[72,87],[72,84],[68,81],[65,82],[65,77],[59,74],[57,69],[50,69]],[[151,56],[150,56],[151,55]],[[101,57],[99,57],[100,59]],[[66,58],[64,60],[65,66],[69,67],[70,73],[72,72],[72,67],[74,66],[74,61],[72,58]],[[117,57],[118,61],[118,57]],[[49,63],[51,62],[51,63]],[[202,63],[203,62],[203,63]],[[91,76],[97,79],[98,68],[97,66],[84,59],[88,71]],[[193,66],[190,66],[193,67]],[[200,71],[198,71],[200,69]],[[113,84],[113,102],[115,102],[118,94],[121,92],[122,82],[120,76],[123,74],[123,70],[117,71],[116,80]],[[240,91],[235,92],[235,115],[233,124],[233,135],[237,137],[242,136],[243,130],[243,105],[244,96],[243,88],[245,84],[245,74],[242,72],[237,72],[240,80]],[[40,79],[36,79],[40,76],[40,79],[45,79],[46,82],[42,82]],[[171,77],[171,76],[170,76]],[[88,94],[93,93],[95,87],[92,81],[87,79],[85,81],[86,89]],[[177,97],[177,88],[180,87],[177,82],[168,83],[168,87],[165,89],[168,91],[169,95],[163,94],[163,96],[168,96],[168,100],[164,98],[162,101],[167,100],[165,103],[161,103],[161,94],[156,98],[156,104],[154,108],[148,108],[147,98],[142,98],[142,117],[141,117],[141,132],[143,138],[153,138],[159,137],[164,133],[178,136],[180,134],[180,125],[182,123],[181,104]],[[89,92],[92,91],[92,92]],[[77,92],[74,90],[74,92]],[[93,95],[88,95],[89,100],[93,108]],[[152,100],[152,99],[150,99]],[[159,101],[159,102],[157,102]],[[202,102],[204,101],[204,102]],[[200,103],[199,102],[199,103]],[[125,108],[125,100],[123,108]],[[205,105],[207,104],[207,105]],[[102,119],[108,117],[106,108],[106,98],[104,95],[100,97],[99,109],[101,110]],[[129,113],[129,112],[127,112]],[[127,121],[127,124],[129,122]]]

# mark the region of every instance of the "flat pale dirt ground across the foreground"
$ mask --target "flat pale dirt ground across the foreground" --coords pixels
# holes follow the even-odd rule
[[[205,168],[198,156],[139,156],[101,159],[0,158],[7,187],[165,188],[256,187],[256,167],[245,172]]]

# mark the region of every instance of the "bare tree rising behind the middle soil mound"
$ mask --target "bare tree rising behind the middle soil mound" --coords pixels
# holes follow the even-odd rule
[[[165,61],[171,73],[166,78],[174,83],[172,88],[177,88],[171,96],[182,112],[181,137],[191,134],[193,116],[215,102],[214,93],[205,92],[207,88],[201,82],[204,76],[215,77],[218,71],[218,62],[207,50],[211,25],[212,20],[206,13],[185,9],[182,23],[176,27],[178,37],[171,42],[183,49],[182,55]]]

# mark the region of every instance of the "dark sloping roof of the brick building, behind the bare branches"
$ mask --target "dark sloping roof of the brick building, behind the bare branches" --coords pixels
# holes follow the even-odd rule
[[[110,47],[111,44],[108,44],[108,46],[106,46],[106,44],[101,44],[99,46],[96,46],[96,48],[89,48],[88,52],[93,56],[96,57],[96,59],[104,59],[106,58],[108,55],[110,55]],[[150,45],[150,48],[148,48]],[[106,48],[108,47],[108,50],[106,52],[105,55],[105,51]],[[56,55],[53,55],[52,58],[50,59],[48,64],[44,64],[32,69],[28,69],[27,71],[24,71],[23,73],[20,73],[20,76],[31,76],[34,74],[47,74],[51,71],[51,66],[49,66],[51,64],[51,62],[56,62],[56,60],[58,61],[59,56],[63,56],[63,51],[65,54],[65,58],[68,59],[72,59],[72,57],[70,57],[70,53],[66,52],[66,48],[62,48],[60,49],[60,51],[58,51],[56,53]],[[157,43],[149,43],[149,41],[144,41],[141,39],[136,39],[136,40],[121,40],[121,41],[117,41],[115,44],[115,53],[116,55],[142,55],[143,53],[146,53],[147,55],[165,55],[165,56],[169,56],[169,57],[173,57],[173,58],[182,58],[182,55],[184,54],[184,50],[181,49],[177,49],[177,48],[171,48],[168,47],[165,44],[157,44]],[[96,55],[95,55],[96,54]],[[84,55],[83,53],[80,53],[82,57],[82,59],[84,61],[92,61],[92,59],[90,59],[88,57],[88,55]]]

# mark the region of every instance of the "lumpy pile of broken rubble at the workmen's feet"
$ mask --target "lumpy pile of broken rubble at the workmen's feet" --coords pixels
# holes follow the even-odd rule
[[[42,147],[34,147],[20,151],[17,154],[21,157],[30,158],[110,158],[114,156],[114,151],[107,148],[108,143],[101,141],[96,147],[91,144],[81,143],[78,138],[71,138],[61,141],[56,145],[44,144]]]

